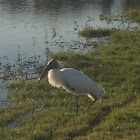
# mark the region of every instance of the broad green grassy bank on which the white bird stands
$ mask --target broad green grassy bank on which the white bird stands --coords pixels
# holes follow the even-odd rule
[[[11,105],[0,109],[2,140],[139,140],[140,139],[140,30],[118,31],[110,45],[89,54],[57,53],[67,67],[83,71],[106,90],[101,103],[79,97],[75,115],[72,94],[46,80],[7,83]]]

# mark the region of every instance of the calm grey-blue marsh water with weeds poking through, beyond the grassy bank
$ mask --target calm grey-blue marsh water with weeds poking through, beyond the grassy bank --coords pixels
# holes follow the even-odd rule
[[[8,103],[2,77],[11,64],[27,66],[24,72],[32,74],[50,51],[87,51],[78,31],[86,26],[127,28],[126,23],[101,21],[100,15],[122,14],[128,8],[140,8],[140,1],[0,0],[0,107]]]

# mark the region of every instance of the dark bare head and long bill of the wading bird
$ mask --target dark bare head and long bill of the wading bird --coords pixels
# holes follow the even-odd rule
[[[45,69],[43,70],[41,76],[38,79],[38,82],[40,82],[46,75],[48,75],[48,71],[51,69],[58,69],[58,62],[55,59],[51,59]]]

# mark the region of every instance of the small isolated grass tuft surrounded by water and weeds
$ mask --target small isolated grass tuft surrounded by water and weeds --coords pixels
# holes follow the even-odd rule
[[[86,27],[82,31],[79,31],[79,35],[86,38],[105,37],[111,35],[112,33],[114,33],[113,29],[94,29],[92,27]]]

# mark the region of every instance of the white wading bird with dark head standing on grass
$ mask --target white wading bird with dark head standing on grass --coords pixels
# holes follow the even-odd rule
[[[63,87],[66,91],[75,95],[76,114],[78,113],[78,95],[87,95],[93,100],[86,109],[87,111],[105,93],[104,88],[100,84],[92,81],[87,75],[76,69],[63,68],[58,70],[58,62],[55,59],[51,59],[48,62],[38,81],[45,76],[48,76],[48,81],[52,86],[57,88]]]

